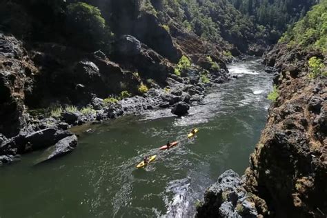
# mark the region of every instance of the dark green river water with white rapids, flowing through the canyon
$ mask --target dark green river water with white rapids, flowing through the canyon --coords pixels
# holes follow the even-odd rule
[[[228,66],[239,79],[209,90],[187,117],[159,110],[83,126],[70,155],[34,166],[41,154],[34,152],[0,168],[0,218],[192,217],[222,172],[242,174],[248,166],[272,89],[260,61]],[[197,137],[187,139],[195,127]],[[159,151],[168,140],[179,146]],[[135,168],[144,155],[157,159]]]

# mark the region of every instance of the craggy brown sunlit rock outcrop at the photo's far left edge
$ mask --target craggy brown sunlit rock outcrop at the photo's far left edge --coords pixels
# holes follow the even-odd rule
[[[17,135],[25,119],[24,99],[32,86],[34,68],[21,42],[0,33],[0,132]]]

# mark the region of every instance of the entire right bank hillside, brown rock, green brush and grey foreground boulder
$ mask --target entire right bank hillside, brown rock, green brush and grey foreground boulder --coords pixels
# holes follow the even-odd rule
[[[250,167],[221,175],[197,217],[326,217],[326,11],[314,6],[264,56],[278,74]]]

